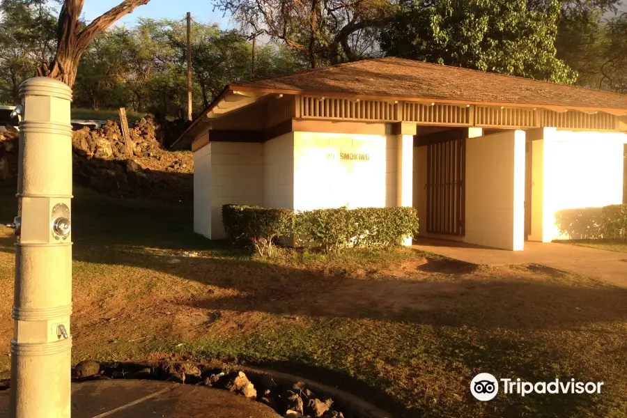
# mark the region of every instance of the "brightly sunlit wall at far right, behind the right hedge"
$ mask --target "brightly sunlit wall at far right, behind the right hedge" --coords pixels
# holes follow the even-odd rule
[[[532,236],[567,239],[555,224],[560,210],[601,208],[623,202],[627,134],[544,128],[532,142]],[[541,156],[541,157],[540,157]]]

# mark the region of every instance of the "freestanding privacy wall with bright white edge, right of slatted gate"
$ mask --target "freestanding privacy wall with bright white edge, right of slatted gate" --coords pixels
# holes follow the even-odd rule
[[[465,215],[465,242],[524,248],[525,132],[467,139]]]

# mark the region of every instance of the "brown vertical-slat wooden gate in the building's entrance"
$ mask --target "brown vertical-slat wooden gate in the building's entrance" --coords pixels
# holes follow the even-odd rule
[[[460,137],[427,146],[428,233],[465,233],[465,145]]]

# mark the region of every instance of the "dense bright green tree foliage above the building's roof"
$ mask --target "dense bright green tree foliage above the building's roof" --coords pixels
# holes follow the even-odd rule
[[[525,0],[414,0],[381,32],[387,55],[571,84],[557,59],[561,4]]]

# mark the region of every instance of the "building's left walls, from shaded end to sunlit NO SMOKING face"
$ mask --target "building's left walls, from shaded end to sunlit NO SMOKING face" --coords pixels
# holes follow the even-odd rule
[[[212,142],[194,153],[194,231],[224,238],[226,203],[411,206],[413,160],[411,135],[290,132],[263,144]]]

